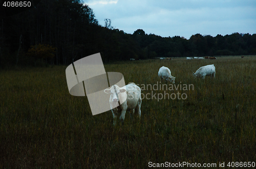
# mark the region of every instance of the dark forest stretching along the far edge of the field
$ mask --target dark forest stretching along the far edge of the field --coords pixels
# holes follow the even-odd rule
[[[33,1],[23,11],[0,15],[0,67],[9,65],[69,65],[100,53],[104,63],[156,57],[255,55],[256,34],[195,34],[161,37],[137,29],[127,34],[104,26],[88,5],[80,0]]]

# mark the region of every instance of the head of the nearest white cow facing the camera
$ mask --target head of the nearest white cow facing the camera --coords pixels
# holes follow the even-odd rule
[[[114,104],[117,104],[119,99],[120,99],[120,104],[122,104],[126,100],[126,95],[124,96],[124,98],[120,97],[120,94],[125,91],[126,89],[120,88],[117,85],[113,85],[110,89],[104,90],[105,93],[111,93],[110,102]]]

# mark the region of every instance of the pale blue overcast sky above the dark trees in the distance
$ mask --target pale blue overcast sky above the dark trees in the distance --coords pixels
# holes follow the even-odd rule
[[[84,0],[99,24],[162,37],[256,33],[256,0]]]

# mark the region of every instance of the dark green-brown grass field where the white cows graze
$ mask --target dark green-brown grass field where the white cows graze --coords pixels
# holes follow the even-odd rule
[[[195,79],[193,72],[207,64],[215,65],[216,78]],[[255,56],[104,66],[106,72],[122,73],[126,84],[140,87],[160,84],[158,70],[166,66],[182,88],[143,89],[150,99],[142,100],[141,119],[132,121],[127,112],[124,125],[117,120],[114,127],[111,111],[93,116],[87,97],[69,94],[67,66],[1,70],[0,168],[256,162]],[[194,90],[183,88],[189,84]],[[174,99],[178,92],[183,99]],[[173,99],[159,99],[166,93],[174,93]]]

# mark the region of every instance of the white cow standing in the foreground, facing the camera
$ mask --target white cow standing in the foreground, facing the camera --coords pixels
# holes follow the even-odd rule
[[[140,118],[141,89],[135,83],[127,84],[124,87],[113,85],[110,89],[105,89],[104,92],[111,93],[110,108],[114,118],[114,125],[116,125],[116,119],[120,113],[120,120],[123,125],[126,111],[130,111],[131,118],[133,118],[134,112]]]

